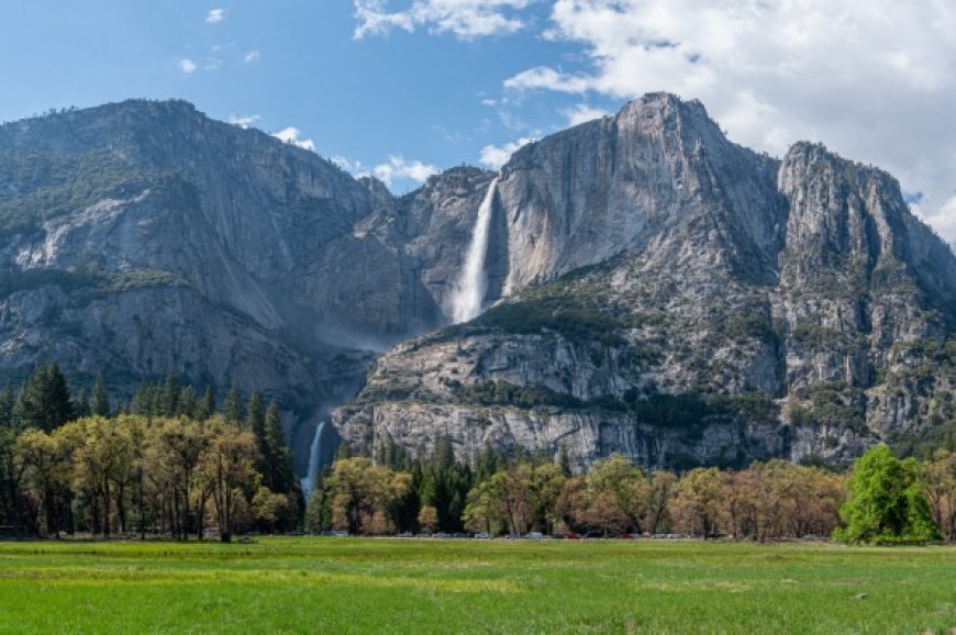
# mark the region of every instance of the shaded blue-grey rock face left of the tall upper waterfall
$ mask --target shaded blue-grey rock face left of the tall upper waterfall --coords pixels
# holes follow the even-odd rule
[[[179,101],[0,126],[0,368],[257,388],[301,423],[302,464],[369,350],[446,322],[490,178],[451,170],[397,200]]]

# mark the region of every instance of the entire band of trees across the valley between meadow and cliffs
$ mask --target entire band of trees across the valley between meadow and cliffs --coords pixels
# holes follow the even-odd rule
[[[221,406],[173,376],[129,403],[97,378],[73,397],[53,364],[0,392],[0,533],[168,537],[332,530],[848,543],[956,539],[956,453],[918,461],[871,448],[847,472],[775,459],[741,470],[646,471],[613,455],[574,474],[557,458],[488,447],[462,460],[447,437],[411,456],[340,447],[308,501],[280,409],[233,388]]]

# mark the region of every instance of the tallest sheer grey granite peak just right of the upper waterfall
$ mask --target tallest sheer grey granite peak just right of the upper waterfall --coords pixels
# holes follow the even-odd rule
[[[777,161],[729,142],[699,102],[654,93],[521,148],[501,170],[510,291],[615,255],[746,270],[782,244]],[[707,249],[689,250],[693,242]],[[740,256],[740,257],[738,257]]]

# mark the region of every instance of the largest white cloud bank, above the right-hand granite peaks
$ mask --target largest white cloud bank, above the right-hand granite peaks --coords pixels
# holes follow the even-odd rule
[[[956,3],[551,1],[545,38],[579,45],[585,67],[529,68],[508,91],[698,98],[738,143],[780,155],[809,138],[888,169],[956,239]]]

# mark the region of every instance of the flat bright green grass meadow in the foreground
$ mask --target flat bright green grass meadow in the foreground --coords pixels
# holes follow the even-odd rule
[[[0,543],[0,633],[948,634],[953,627],[951,547]]]

